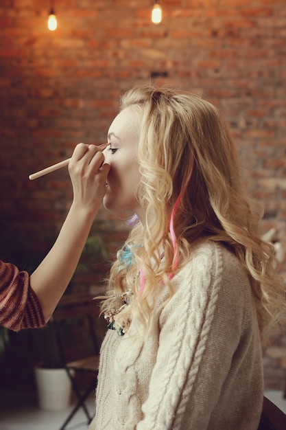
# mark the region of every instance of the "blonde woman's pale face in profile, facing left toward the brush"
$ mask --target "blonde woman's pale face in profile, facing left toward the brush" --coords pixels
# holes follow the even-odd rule
[[[140,180],[136,159],[138,124],[138,116],[128,107],[115,117],[108,130],[109,146],[104,150],[105,162],[110,165],[104,196],[107,210],[131,210],[137,215],[141,212],[135,199]]]

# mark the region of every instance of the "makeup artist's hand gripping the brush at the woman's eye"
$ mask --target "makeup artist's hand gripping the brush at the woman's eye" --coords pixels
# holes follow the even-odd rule
[[[73,184],[73,205],[86,207],[96,214],[106,192],[106,177],[110,166],[104,164],[104,154],[95,145],[78,144],[69,161]]]

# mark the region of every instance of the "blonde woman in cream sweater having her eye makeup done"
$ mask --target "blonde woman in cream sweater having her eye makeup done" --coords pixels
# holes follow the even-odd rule
[[[257,430],[261,336],[281,315],[235,145],[215,107],[167,88],[121,100],[104,205],[136,214],[102,302],[91,430]]]

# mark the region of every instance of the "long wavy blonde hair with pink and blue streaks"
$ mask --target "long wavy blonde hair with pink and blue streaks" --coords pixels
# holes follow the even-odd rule
[[[198,95],[167,87],[131,89],[121,98],[121,110],[129,106],[139,123],[136,194],[146,224],[137,223],[117,253],[102,311],[114,307],[118,295],[130,288],[134,299],[115,317],[116,324],[122,327],[136,318],[147,332],[158,286],[167,284],[174,293],[172,275],[189,260],[190,244],[204,238],[222,242],[245,267],[263,332],[281,317],[285,291],[274,248],[261,240],[261,207],[246,194],[222,115]]]

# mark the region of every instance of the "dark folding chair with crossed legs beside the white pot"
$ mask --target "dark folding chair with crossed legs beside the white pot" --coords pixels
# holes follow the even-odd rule
[[[67,424],[80,407],[86,415],[88,424],[93,419],[85,402],[91,392],[95,391],[97,384],[99,342],[95,326],[98,315],[99,306],[95,300],[79,295],[65,295],[50,320],[56,329],[62,364],[67,370],[73,393],[77,398],[77,403],[64,420],[60,430],[66,429]],[[87,374],[89,378],[84,392],[82,392],[81,381],[84,379],[84,374]]]

